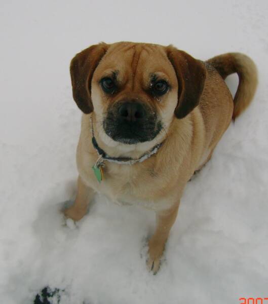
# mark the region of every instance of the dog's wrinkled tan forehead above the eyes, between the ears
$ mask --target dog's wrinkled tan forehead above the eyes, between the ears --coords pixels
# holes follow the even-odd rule
[[[121,43],[111,45],[99,63],[94,78],[111,77],[119,81],[142,81],[157,77],[176,84],[176,74],[165,48],[150,44]]]

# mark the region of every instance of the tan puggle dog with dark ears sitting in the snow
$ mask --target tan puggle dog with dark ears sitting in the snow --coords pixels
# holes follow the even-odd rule
[[[231,73],[234,99],[224,82]],[[70,74],[83,118],[78,193],[65,216],[80,220],[95,192],[154,210],[147,267],[155,274],[183,189],[251,102],[256,67],[240,53],[204,62],[173,46],[120,42],[77,54]]]

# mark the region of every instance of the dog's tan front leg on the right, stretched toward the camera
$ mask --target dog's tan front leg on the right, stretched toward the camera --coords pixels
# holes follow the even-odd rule
[[[179,208],[179,203],[172,208],[158,212],[157,226],[154,235],[148,242],[148,260],[147,267],[149,271],[156,274],[160,267],[160,260],[165,249],[170,229],[175,222]]]

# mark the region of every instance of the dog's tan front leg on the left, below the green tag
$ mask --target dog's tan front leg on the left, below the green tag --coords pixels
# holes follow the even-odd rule
[[[86,186],[81,177],[78,177],[78,192],[74,204],[64,210],[64,215],[75,221],[80,220],[88,211],[88,205],[94,196],[92,188]]]

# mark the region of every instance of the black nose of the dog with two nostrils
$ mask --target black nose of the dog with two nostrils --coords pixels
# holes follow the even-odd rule
[[[129,122],[141,121],[145,117],[144,107],[138,102],[124,102],[118,112],[121,118]]]

